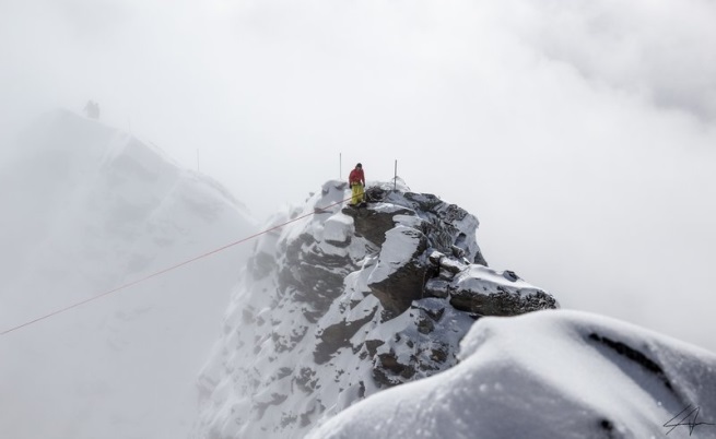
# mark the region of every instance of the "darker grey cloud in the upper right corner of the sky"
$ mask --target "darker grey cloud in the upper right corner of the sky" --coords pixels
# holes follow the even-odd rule
[[[595,84],[664,109],[716,119],[716,4],[707,1],[512,1],[508,23],[526,45]]]

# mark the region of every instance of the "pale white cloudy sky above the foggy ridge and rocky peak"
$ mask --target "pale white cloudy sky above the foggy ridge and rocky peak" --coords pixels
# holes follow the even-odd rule
[[[0,141],[94,99],[259,218],[339,154],[368,180],[398,159],[481,220],[493,268],[716,351],[714,22],[706,0],[0,0]]]

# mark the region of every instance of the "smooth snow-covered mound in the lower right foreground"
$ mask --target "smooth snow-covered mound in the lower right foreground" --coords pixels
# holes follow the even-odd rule
[[[457,366],[368,398],[308,437],[706,439],[714,423],[716,355],[550,311],[480,319]]]

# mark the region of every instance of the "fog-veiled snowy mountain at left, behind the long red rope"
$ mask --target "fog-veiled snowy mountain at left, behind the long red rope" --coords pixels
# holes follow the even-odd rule
[[[0,167],[0,330],[255,230],[213,180],[69,111]],[[12,188],[12,190],[4,190]],[[232,248],[0,339],[3,437],[183,437],[193,380],[247,248]]]

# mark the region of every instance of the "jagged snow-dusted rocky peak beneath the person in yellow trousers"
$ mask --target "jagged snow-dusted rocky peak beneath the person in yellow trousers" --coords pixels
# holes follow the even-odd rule
[[[456,364],[481,316],[556,308],[548,293],[486,266],[478,220],[435,195],[377,186],[341,206],[329,181],[268,227],[200,378],[196,437],[302,437],[380,389]]]

